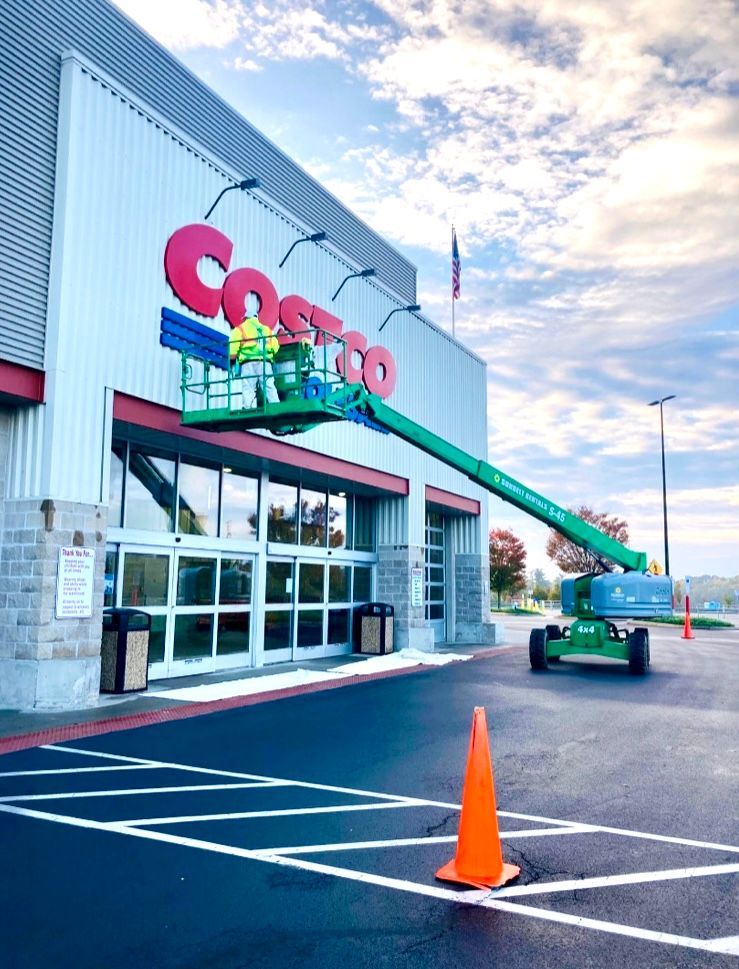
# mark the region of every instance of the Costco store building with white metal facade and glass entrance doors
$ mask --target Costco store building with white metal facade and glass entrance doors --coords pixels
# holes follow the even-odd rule
[[[152,678],[350,652],[368,601],[396,648],[490,638],[482,489],[356,423],[185,428],[161,341],[163,308],[340,333],[485,457],[485,365],[403,309],[414,267],[105,0],[0,28],[0,706],[95,703],[108,606],[151,615]]]

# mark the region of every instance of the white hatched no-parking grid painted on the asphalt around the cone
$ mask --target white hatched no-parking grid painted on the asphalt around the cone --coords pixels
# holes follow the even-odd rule
[[[51,821],[59,824],[72,825],[75,827],[88,828],[96,831],[105,831],[108,833],[122,834],[129,837],[143,838],[151,841],[158,841],[167,844],[180,845],[183,847],[196,848],[203,851],[215,852],[218,854],[231,855],[233,857],[243,858],[251,861],[261,861],[274,865],[283,865],[290,868],[300,869],[303,871],[311,871],[317,874],[328,875],[337,878],[347,879],[349,881],[361,882],[364,884],[376,885],[379,887],[385,887],[389,889],[394,889],[396,891],[411,892],[419,895],[425,895],[430,898],[436,898],[446,901],[451,901],[456,904],[465,905],[475,905],[482,908],[494,909],[497,911],[508,912],[516,915],[524,915],[527,917],[543,919],[545,921],[558,923],[561,925],[569,925],[573,927],[578,927],[581,929],[588,929],[598,932],[606,932],[615,935],[626,936],[629,938],[642,939],[644,941],[657,942],[662,944],[677,945],[689,949],[698,949],[705,952],[715,952],[728,955],[738,955],[739,954],[739,937],[737,936],[726,936],[718,939],[696,939],[688,936],[680,936],[667,932],[659,932],[651,929],[638,928],[636,926],[623,925],[619,922],[609,922],[600,919],[591,919],[583,916],[571,915],[566,912],[558,912],[553,909],[537,908],[532,905],[523,904],[518,901],[509,901],[508,899],[515,899],[516,896],[526,896],[533,894],[549,894],[558,893],[562,891],[585,891],[588,889],[604,888],[604,887],[614,887],[618,885],[630,885],[630,884],[640,884],[640,883],[650,883],[666,880],[677,880],[685,878],[696,878],[696,877],[708,877],[711,875],[726,875],[735,874],[739,872],[739,864],[722,864],[722,865],[712,865],[712,866],[702,866],[694,868],[681,868],[681,869],[670,869],[665,871],[654,871],[654,872],[633,872],[626,873],[622,875],[610,875],[604,876],[602,878],[583,878],[564,881],[555,881],[549,883],[536,883],[532,885],[523,886],[510,886],[508,888],[502,888],[492,891],[479,891],[479,890],[467,890],[467,891],[456,891],[449,888],[442,888],[436,885],[426,885],[419,882],[406,881],[403,879],[392,878],[385,875],[374,874],[371,872],[357,871],[349,868],[341,868],[332,865],[327,865],[319,863],[316,861],[310,861],[307,858],[294,857],[295,855],[308,854],[309,852],[321,852],[321,851],[340,851],[340,850],[361,850],[370,849],[373,847],[391,847],[393,844],[395,846],[399,845],[413,845],[413,844],[433,844],[442,842],[453,842],[456,840],[454,836],[440,836],[438,838],[420,838],[420,839],[394,839],[388,842],[354,842],[354,843],[341,843],[335,845],[298,845],[293,848],[280,848],[276,847],[273,849],[249,849],[240,848],[233,845],[220,844],[213,841],[205,841],[197,838],[182,837],[176,834],[165,831],[155,831],[151,828],[144,827],[147,824],[164,824],[164,823],[184,823],[186,821],[205,821],[205,820],[237,820],[239,818],[259,818],[259,817],[275,817],[275,816],[298,816],[301,814],[316,814],[316,813],[335,813],[343,811],[357,811],[357,810],[378,810],[384,808],[394,808],[394,807],[443,807],[459,811],[459,805],[448,804],[440,801],[429,801],[421,798],[406,798],[391,794],[380,794],[378,792],[372,791],[361,791],[353,788],[343,788],[331,785],[323,784],[313,784],[308,781],[290,781],[280,778],[269,778],[262,775],[255,774],[242,774],[234,771],[221,771],[213,768],[200,768],[192,767],[190,765],[183,764],[172,764],[160,761],[145,760],[142,758],[131,758],[124,757],[118,754],[105,754],[90,750],[83,750],[77,748],[69,747],[57,747],[50,745],[47,747],[50,750],[58,750],[63,753],[73,753],[73,754],[84,754],[90,757],[97,757],[101,759],[113,759],[116,761],[124,761],[128,764],[133,765],[145,765],[149,767],[159,767],[159,768],[171,768],[175,770],[183,771],[194,771],[197,773],[205,773],[210,775],[216,775],[221,777],[231,777],[239,778],[249,781],[265,782],[264,786],[273,786],[275,782],[284,785],[290,785],[297,788],[308,788],[314,790],[322,791],[332,791],[341,792],[347,794],[353,794],[355,796],[365,797],[365,798],[376,798],[377,801],[370,804],[351,804],[351,805],[337,805],[329,807],[318,807],[318,808],[295,808],[280,811],[249,811],[249,812],[229,812],[218,815],[196,815],[192,817],[173,817],[173,818],[150,818],[150,819],[137,819],[133,821],[93,821],[87,818],[77,818],[68,815],[53,814],[46,811],[39,811],[34,808],[24,807],[20,804],[9,803],[11,801],[18,800],[28,800],[34,796],[20,796],[13,798],[12,796],[3,799],[3,803],[0,803],[0,812],[15,814],[19,816],[25,816],[28,818],[36,818],[39,820]],[[19,772],[21,773],[21,772]],[[224,785],[204,785],[210,789],[228,789],[231,787],[241,787],[242,785],[235,784],[224,784]],[[254,784],[243,785],[244,787],[257,786]],[[261,785],[260,785],[261,786]],[[196,788],[202,789],[203,786]],[[192,790],[193,788],[182,787],[175,788],[174,790]],[[150,789],[155,791],[156,789]],[[101,792],[106,794],[112,794],[115,792]],[[51,795],[50,798],[54,797],[68,797],[69,795]],[[575,821],[563,821],[553,818],[543,818],[535,815],[525,815],[514,812],[500,811],[499,815],[501,817],[511,817],[523,820],[536,821],[538,823],[545,823],[554,825],[554,827],[549,828],[539,828],[526,831],[512,831],[506,832],[502,837],[513,838],[513,837],[538,837],[538,836],[556,836],[558,834],[579,834],[579,833],[601,833],[601,834],[612,834],[622,837],[630,838],[640,838],[645,840],[652,840],[657,842],[663,842],[668,844],[677,844],[697,848],[705,848],[710,850],[722,850],[729,851],[733,853],[739,853],[739,847],[734,845],[721,845],[713,842],[697,841],[688,838],[677,838],[668,835],[654,835],[646,832],[629,831],[627,829],[621,828],[611,828],[602,825],[591,825],[583,824]]]

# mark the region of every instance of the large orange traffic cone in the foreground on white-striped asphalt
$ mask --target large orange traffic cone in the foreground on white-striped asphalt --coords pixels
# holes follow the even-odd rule
[[[520,874],[520,868],[506,865],[503,861],[485,709],[475,707],[462,793],[457,854],[436,872],[436,877],[475,888],[499,888]]]

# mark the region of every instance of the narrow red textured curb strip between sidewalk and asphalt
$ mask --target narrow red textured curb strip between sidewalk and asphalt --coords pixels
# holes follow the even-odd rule
[[[485,659],[503,652],[519,649],[517,646],[502,646],[494,653],[489,651],[473,653],[472,659]],[[403,676],[407,673],[419,673],[433,669],[422,665],[409,666],[400,670],[383,670],[379,673],[369,673],[366,676],[347,676],[340,680],[326,680],[320,683],[306,683],[303,686],[292,686],[283,690],[269,690],[265,693],[255,693],[250,696],[227,697],[224,700],[210,700],[207,703],[183,703],[182,706],[165,707],[163,710],[148,710],[145,713],[130,713],[120,717],[110,717],[107,720],[91,720],[87,723],[72,723],[62,727],[47,727],[33,733],[16,734],[12,737],[0,737],[0,755],[12,754],[31,747],[41,747],[44,744],[56,744],[69,740],[81,740],[84,737],[96,737],[105,733],[116,733],[119,730],[135,730],[137,727],[148,727],[155,723],[168,723],[172,720],[185,720],[189,717],[202,717],[209,713],[219,713],[222,710],[233,710],[238,707],[250,707],[257,703],[269,703],[272,700],[283,700],[305,693],[318,693],[321,690],[336,690],[345,686],[356,686],[373,680],[385,680],[391,676]]]

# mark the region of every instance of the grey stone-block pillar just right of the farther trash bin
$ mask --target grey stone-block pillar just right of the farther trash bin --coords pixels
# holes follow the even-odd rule
[[[411,569],[424,567],[424,550],[417,545],[380,545],[377,549],[376,602],[395,607],[394,648],[433,649],[434,631],[426,625],[423,605],[411,605]]]

